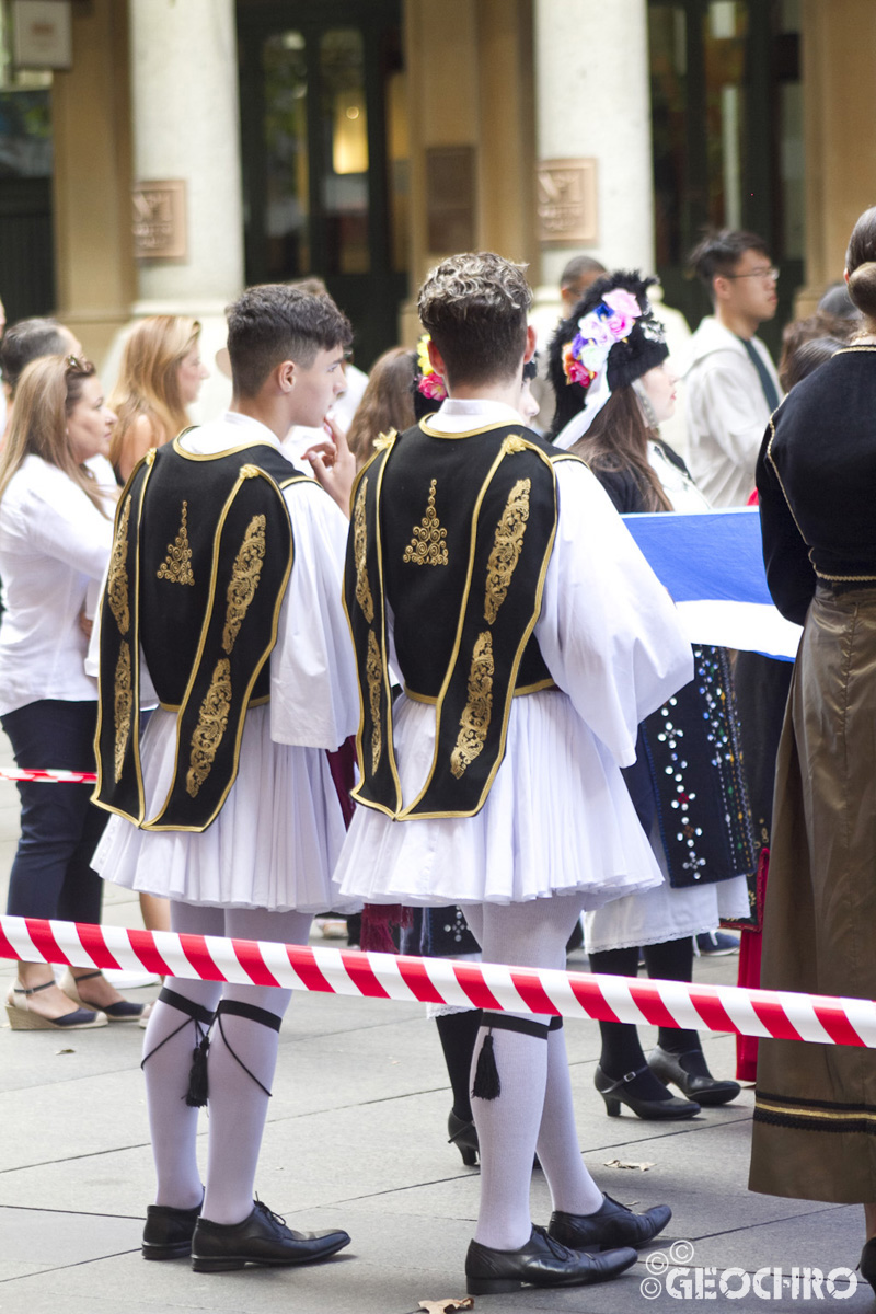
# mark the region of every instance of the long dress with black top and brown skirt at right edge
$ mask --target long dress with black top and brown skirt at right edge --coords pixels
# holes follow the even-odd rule
[[[876,999],[876,348],[783,402],[758,491],[767,579],[804,623],[779,748],[762,984]],[[876,1201],[876,1054],[760,1041],[750,1187]]]

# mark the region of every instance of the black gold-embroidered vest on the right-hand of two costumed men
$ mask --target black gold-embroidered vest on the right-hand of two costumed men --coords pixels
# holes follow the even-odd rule
[[[533,628],[557,530],[553,463],[524,426],[378,440],[359,476],[344,600],[361,691],[355,798],[395,819],[473,816],[504,757],[511,699],[553,686]],[[407,807],[393,748],[386,608],[410,698],[436,710],[435,761]]]

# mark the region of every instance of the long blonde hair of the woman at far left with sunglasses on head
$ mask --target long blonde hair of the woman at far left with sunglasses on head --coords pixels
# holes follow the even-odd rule
[[[25,457],[33,453],[63,470],[109,519],[95,476],[76,461],[67,438],[70,414],[81,398],[85,380],[93,377],[92,363],[76,356],[41,356],[30,361],[16,389],[12,424],[0,453],[0,501]]]

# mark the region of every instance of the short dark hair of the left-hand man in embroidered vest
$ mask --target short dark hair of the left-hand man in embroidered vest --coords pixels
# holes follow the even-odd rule
[[[256,397],[281,361],[313,365],[318,351],[348,347],[353,330],[328,296],[282,283],[247,288],[226,310],[231,378],[239,397]]]

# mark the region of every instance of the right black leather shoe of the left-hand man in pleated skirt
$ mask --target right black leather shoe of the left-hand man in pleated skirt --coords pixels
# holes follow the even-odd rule
[[[192,1238],[192,1268],[196,1273],[227,1273],[244,1264],[313,1264],[344,1246],[349,1246],[345,1231],[294,1233],[256,1200],[242,1223],[198,1218]]]

